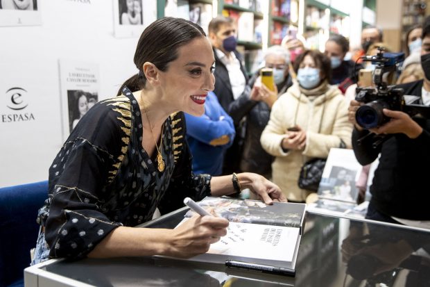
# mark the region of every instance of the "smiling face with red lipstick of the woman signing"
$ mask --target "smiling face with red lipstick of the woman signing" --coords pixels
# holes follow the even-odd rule
[[[160,72],[160,87],[171,110],[190,115],[205,113],[207,92],[214,90],[214,53],[209,40],[196,38],[178,49],[178,58]]]

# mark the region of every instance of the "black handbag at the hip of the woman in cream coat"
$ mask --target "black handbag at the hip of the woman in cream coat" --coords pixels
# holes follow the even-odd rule
[[[325,162],[326,160],[324,158],[312,158],[310,161],[304,163],[300,170],[299,187],[306,190],[317,191]]]

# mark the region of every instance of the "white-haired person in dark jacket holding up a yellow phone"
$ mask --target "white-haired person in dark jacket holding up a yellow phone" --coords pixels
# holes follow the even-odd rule
[[[240,168],[243,172],[255,172],[266,178],[271,176],[273,156],[260,144],[260,136],[268,123],[270,109],[278,97],[293,85],[289,74],[289,51],[279,45],[268,48],[264,54],[265,67],[273,69],[275,85],[270,90],[261,83],[259,72],[250,79],[250,95],[241,95],[230,104],[230,115],[238,124],[246,117],[246,133]]]

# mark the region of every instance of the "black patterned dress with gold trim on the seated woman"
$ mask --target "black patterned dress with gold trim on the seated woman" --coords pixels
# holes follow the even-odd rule
[[[210,195],[211,177],[191,172],[183,113],[164,122],[163,172],[142,147],[142,132],[128,88],[78,122],[49,169],[49,199],[38,218],[49,257],[84,257],[116,227],[146,222],[157,207],[162,214],[180,208],[184,197]]]

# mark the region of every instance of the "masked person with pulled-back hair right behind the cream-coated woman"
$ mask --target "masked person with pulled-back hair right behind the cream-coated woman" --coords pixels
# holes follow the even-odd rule
[[[352,60],[343,60],[347,51],[350,49],[350,41],[343,35],[332,35],[325,42],[325,56],[330,58],[332,65],[332,80],[330,84],[337,85],[338,88],[345,94],[346,89],[356,83],[356,73],[361,69],[361,65],[357,65],[354,70],[354,62]]]

